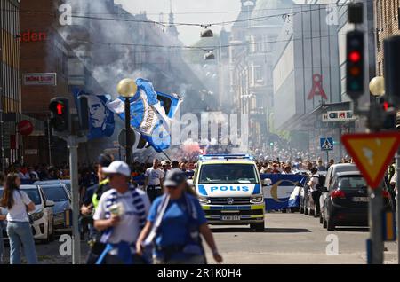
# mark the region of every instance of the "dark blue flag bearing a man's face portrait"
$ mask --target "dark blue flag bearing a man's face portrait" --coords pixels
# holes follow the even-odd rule
[[[109,98],[105,95],[93,95],[85,93],[83,90],[74,89],[74,98],[85,96],[88,99],[90,114],[90,130],[88,139],[98,139],[101,137],[111,137],[116,129],[114,113],[106,106]]]

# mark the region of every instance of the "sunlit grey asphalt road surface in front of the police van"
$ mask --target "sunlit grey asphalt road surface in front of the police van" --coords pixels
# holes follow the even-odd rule
[[[319,264],[319,263],[366,263],[366,228],[341,228],[326,231],[318,219],[308,215],[270,213],[266,215],[264,232],[251,231],[246,226],[212,226],[214,237],[229,264]],[[338,255],[327,255],[326,247],[337,239]],[[337,236],[337,237],[335,237]],[[36,245],[40,263],[71,263],[71,257],[60,255],[61,242]],[[396,263],[396,243],[385,243],[385,263]],[[61,247],[62,248],[62,247]],[[214,263],[206,247],[209,263]],[[333,251],[334,248],[329,247]],[[88,251],[82,242],[82,261]],[[8,247],[5,256],[8,256]]]

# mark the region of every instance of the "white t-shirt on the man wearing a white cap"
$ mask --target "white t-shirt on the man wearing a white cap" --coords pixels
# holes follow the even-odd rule
[[[106,219],[106,202],[109,195],[115,192],[115,189],[110,189],[104,192],[99,200],[99,206],[94,212],[93,219],[100,220]],[[140,189],[136,189],[139,193],[140,198],[143,200],[146,212],[146,218],[148,216],[148,210],[150,209],[150,201],[145,192]],[[125,241],[129,243],[134,243],[140,234],[140,217],[137,215],[137,209],[133,205],[132,191],[127,191],[124,194],[116,194],[116,204],[122,203],[124,209],[124,215],[121,215],[121,221],[114,227],[113,233],[109,238],[109,243],[119,243],[120,241]]]

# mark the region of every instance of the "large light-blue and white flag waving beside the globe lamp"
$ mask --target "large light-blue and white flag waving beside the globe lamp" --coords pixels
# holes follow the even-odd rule
[[[153,84],[137,79],[138,91],[131,98],[131,126],[146,139],[156,152],[160,153],[171,145],[170,126],[182,99],[175,95],[157,93]],[[124,98],[120,97],[107,104],[108,109],[124,120]]]

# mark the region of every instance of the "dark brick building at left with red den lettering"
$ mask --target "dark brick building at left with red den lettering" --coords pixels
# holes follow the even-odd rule
[[[56,30],[58,4],[60,1],[20,1],[21,108],[23,114],[38,120],[34,133],[23,137],[23,161],[27,164],[67,156],[65,143],[50,137],[47,127],[49,101],[69,95],[68,45]]]

